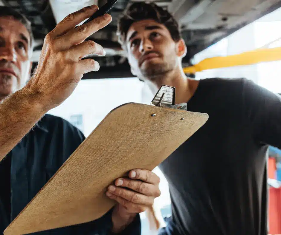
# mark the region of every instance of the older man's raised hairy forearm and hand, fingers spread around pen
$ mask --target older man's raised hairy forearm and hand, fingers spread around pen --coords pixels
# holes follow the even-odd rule
[[[106,14],[75,28],[97,9],[95,5],[84,7],[59,22],[45,37],[36,72],[28,84],[0,104],[0,161],[48,110],[71,95],[83,74],[99,69],[93,59],[80,58],[105,55],[102,46],[85,39],[108,25],[111,16]]]

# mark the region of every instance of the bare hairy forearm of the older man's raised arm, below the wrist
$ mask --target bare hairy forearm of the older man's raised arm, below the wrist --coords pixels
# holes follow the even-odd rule
[[[0,161],[46,113],[40,103],[21,89],[0,104]]]

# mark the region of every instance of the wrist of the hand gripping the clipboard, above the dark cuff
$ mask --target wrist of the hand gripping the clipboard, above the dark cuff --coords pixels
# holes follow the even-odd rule
[[[118,234],[122,232],[129,224],[131,224],[137,213],[112,213],[112,234]]]

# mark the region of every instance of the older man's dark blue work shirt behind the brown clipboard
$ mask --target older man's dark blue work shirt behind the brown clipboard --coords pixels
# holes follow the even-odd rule
[[[68,121],[45,115],[4,157],[0,162],[0,234],[84,139]],[[33,234],[110,234],[111,212],[92,222]],[[138,235],[140,231],[138,216],[121,234]]]

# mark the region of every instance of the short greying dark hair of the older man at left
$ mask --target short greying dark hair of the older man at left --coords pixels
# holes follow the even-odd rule
[[[27,29],[30,35],[30,47],[32,48],[33,45],[33,33],[31,28],[31,22],[17,10],[13,9],[12,7],[0,6],[0,17],[5,16],[12,16],[14,19],[20,21]]]

